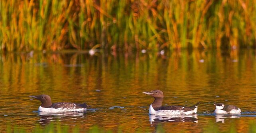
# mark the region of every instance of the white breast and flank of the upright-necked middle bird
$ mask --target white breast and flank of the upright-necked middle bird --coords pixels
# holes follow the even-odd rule
[[[184,112],[184,110],[154,110],[152,105],[150,105],[149,114],[155,115],[175,115],[175,114],[193,114],[197,113],[197,107],[194,110]]]

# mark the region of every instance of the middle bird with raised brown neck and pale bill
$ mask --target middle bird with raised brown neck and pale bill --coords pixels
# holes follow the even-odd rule
[[[174,114],[196,114],[198,104],[185,107],[185,106],[162,106],[163,92],[154,90],[150,92],[143,92],[155,98],[154,102],[150,105],[149,114],[156,115],[174,115]]]

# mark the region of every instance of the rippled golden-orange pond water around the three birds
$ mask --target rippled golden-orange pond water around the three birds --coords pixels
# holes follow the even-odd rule
[[[113,131],[202,132],[209,121],[222,131],[231,123],[248,131],[256,119],[255,51],[172,51],[89,55],[83,52],[6,53],[0,57],[0,131],[6,125],[93,125]],[[154,100],[142,92],[160,89],[165,105],[193,105],[191,116],[149,116]],[[87,112],[41,113],[30,95],[53,102],[86,102]],[[215,115],[214,102],[237,105],[241,115]]]

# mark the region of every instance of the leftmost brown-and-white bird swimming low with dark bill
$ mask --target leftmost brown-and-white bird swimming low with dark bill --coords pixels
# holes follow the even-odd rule
[[[51,97],[48,95],[30,96],[41,101],[38,111],[42,112],[66,112],[66,111],[83,111],[87,109],[86,103],[51,103]]]

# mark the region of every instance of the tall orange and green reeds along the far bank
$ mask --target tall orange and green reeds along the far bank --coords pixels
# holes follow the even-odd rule
[[[0,49],[255,46],[254,0],[2,0]]]

